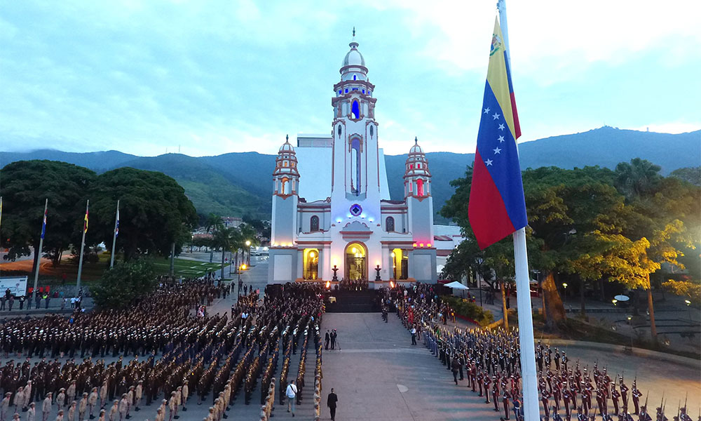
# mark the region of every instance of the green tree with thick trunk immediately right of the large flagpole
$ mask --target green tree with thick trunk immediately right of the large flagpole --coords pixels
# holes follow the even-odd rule
[[[529,215],[529,261],[540,270],[540,287],[545,301],[547,326],[565,318],[557,290],[562,273],[580,279],[580,305],[584,312],[587,279],[586,257],[599,258],[601,248],[587,236],[599,226],[599,218],[620,206],[622,198],[611,186],[613,173],[605,168],[585,167],[565,170],[543,167],[523,173],[526,211]],[[573,262],[579,261],[579,265]]]

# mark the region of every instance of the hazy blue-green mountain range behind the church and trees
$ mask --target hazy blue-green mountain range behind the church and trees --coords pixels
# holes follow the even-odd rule
[[[423,145],[430,148],[430,143]],[[557,166],[576,168],[601,166],[615,168],[633,158],[648,159],[668,175],[678,168],[701,165],[701,131],[669,134],[620,130],[609,126],[571,135],[523,142],[519,145],[522,168]],[[451,180],[461,178],[475,154],[428,152],[433,175],[432,194],[436,212],[453,194]],[[217,156],[193,157],[182,154],[135,156],[118,151],[61,152],[39,149],[32,152],[0,152],[0,167],[29,159],[64,161],[90,168],[97,173],[132,167],[161,171],[184,187],[198,213],[227,216],[252,215],[270,218],[275,155],[232,152]],[[402,199],[402,175],[407,155],[387,155],[385,163],[390,196]],[[304,174],[301,174],[304,182]],[[440,216],[437,221],[445,222]]]

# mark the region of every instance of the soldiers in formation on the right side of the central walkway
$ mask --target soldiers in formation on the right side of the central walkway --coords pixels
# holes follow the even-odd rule
[[[410,322],[423,326],[424,344],[452,371],[456,384],[456,373],[464,365],[467,386],[478,396],[483,396],[485,403],[490,403],[491,399],[494,410],[498,411],[498,396],[502,396],[499,401],[505,420],[509,419],[509,403],[512,407],[520,408],[522,382],[517,329],[446,328],[442,314],[450,309],[439,302],[435,287],[427,284],[401,290],[396,294],[395,306],[397,315],[407,328],[411,326]],[[573,368],[564,350],[552,349],[540,340],[536,345],[536,364],[538,397],[544,420],[551,417],[553,420],[560,419],[559,414],[563,413],[566,421],[571,421],[573,416],[579,421],[594,421],[597,416],[603,421],[613,421],[613,417],[617,421],[630,421],[632,415],[639,414],[641,392],[635,379],[632,389],[629,389],[622,374],[612,379],[606,367],[600,368],[596,362],[592,370],[588,366],[582,368],[579,361]],[[633,413],[629,413],[629,399],[633,401]],[[683,409],[680,410],[679,421],[682,413],[686,417],[686,403]],[[516,415],[520,419],[518,412]],[[658,409],[657,421],[665,421],[664,406]]]

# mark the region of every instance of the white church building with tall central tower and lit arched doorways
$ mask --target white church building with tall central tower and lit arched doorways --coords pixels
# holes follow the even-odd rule
[[[298,135],[296,147],[287,139],[278,152],[268,283],[435,283],[437,265],[462,240],[459,228],[433,225],[431,173],[416,139],[404,168],[404,198],[390,200],[375,86],[355,32],[349,45],[334,85],[331,132]]]

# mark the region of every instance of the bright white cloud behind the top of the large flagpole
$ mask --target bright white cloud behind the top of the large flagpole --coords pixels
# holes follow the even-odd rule
[[[447,72],[486,69],[496,1],[395,1],[425,58]],[[508,35],[517,72],[542,83],[578,74],[592,62],[624,62],[651,47],[698,51],[701,2],[683,0],[508,1]],[[544,65],[545,64],[545,65]]]

